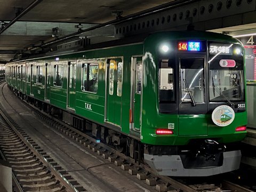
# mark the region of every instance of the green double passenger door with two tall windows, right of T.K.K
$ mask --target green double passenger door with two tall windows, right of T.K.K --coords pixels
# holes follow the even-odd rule
[[[106,121],[121,126],[122,116],[122,84],[123,60],[108,59],[107,91],[106,91]]]

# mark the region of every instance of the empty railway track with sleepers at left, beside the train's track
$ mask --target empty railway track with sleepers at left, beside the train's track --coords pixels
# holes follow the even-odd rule
[[[0,149],[17,191],[85,191],[1,107]]]

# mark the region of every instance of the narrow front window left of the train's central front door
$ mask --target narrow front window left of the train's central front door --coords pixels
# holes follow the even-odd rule
[[[174,102],[174,60],[162,60],[159,63],[159,102]]]

